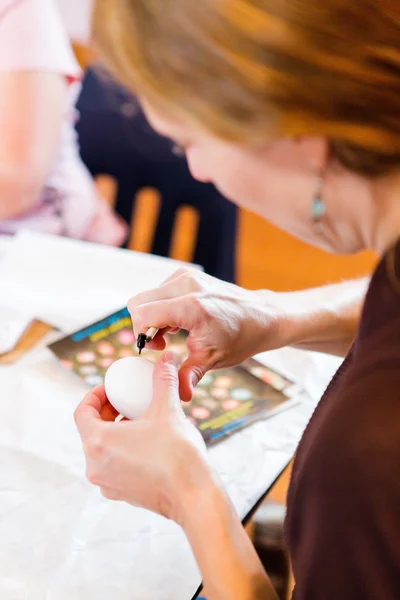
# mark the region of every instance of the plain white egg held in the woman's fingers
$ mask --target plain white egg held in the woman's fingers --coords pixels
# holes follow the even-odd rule
[[[104,385],[110,404],[127,419],[136,419],[150,406],[154,363],[145,358],[121,358],[108,369]]]

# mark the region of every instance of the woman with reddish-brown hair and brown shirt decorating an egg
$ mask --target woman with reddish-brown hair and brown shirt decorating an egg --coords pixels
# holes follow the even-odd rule
[[[195,177],[316,246],[372,248],[381,261],[370,282],[291,294],[180,271],[133,298],[135,333],[161,328],[163,349],[168,328],[187,329],[189,356],[178,372],[164,355],[134,422],[113,422],[103,388],[85,398],[89,479],[180,523],[211,600],[274,598],[179,397],[256,352],[347,352],[296,455],[294,598],[400,598],[399,4],[98,0],[94,23],[109,65]]]

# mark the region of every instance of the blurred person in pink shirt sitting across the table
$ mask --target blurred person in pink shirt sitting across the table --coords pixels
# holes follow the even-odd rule
[[[79,157],[80,77],[53,0],[0,0],[0,234],[123,243],[125,224]]]

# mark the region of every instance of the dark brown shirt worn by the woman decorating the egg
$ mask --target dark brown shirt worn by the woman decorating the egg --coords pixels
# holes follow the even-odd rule
[[[294,600],[400,600],[400,244],[300,442],[286,532]]]

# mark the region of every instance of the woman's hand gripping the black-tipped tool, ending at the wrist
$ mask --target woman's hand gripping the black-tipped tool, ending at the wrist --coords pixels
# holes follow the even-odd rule
[[[245,290],[191,268],[133,297],[128,308],[136,337],[150,327],[161,330],[148,348],[162,350],[168,331],[189,332],[188,358],[179,371],[180,396],[186,401],[208,370],[287,343],[274,292]]]

